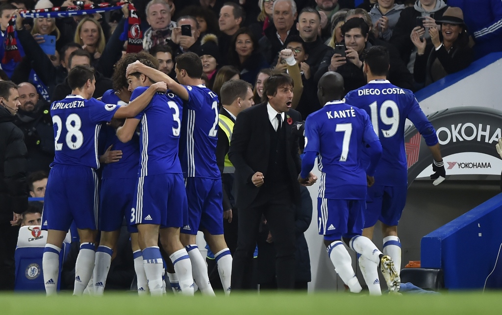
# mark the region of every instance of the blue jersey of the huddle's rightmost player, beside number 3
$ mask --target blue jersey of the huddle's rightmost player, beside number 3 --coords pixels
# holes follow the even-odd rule
[[[184,102],[180,139],[183,176],[219,179],[216,164],[218,96],[205,85],[185,88],[189,99]]]

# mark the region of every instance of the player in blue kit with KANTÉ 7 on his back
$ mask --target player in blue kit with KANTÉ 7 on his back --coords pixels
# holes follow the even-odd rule
[[[365,111],[340,100],[343,95],[340,74],[324,74],[319,80],[317,95],[325,105],[305,121],[305,156],[298,181],[308,182],[315,157],[319,155],[318,167],[322,173],[317,200],[319,234],[324,235],[336,273],[351,292],[360,292],[362,288],[342,239],[355,252],[371,260],[375,270],[380,264],[389,290],[397,292],[400,278],[392,259],[361,236],[366,187],[374,183],[373,174],[382,155],[379,138]],[[363,147],[369,156],[367,170],[360,163]]]

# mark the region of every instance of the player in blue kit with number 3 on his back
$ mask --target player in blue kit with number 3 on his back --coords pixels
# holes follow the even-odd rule
[[[142,61],[137,63],[145,65]],[[131,97],[134,99],[153,81],[138,71],[129,71],[130,67],[127,69],[127,79],[129,89],[134,89]],[[117,129],[118,138],[129,141],[141,121],[140,173],[131,223],[137,225],[139,230],[144,268],[153,295],[162,294],[163,261],[157,246],[159,232],[161,243],[174,264],[181,292],[193,295],[194,291],[192,266],[180,242],[180,228],[188,218],[185,185],[178,157],[181,120],[182,100],[169,90],[167,94],[156,95],[144,112],[127,119]],[[165,189],[159,190],[159,187]]]

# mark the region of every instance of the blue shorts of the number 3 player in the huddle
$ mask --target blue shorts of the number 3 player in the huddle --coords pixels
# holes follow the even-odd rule
[[[138,179],[131,210],[131,225],[156,224],[181,228],[188,218],[182,174],[158,174]]]

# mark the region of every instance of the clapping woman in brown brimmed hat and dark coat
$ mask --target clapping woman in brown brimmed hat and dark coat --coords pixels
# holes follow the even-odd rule
[[[467,68],[474,59],[460,8],[446,9],[441,20],[436,20],[436,23],[441,25],[441,34],[436,28],[429,29],[432,41],[430,47],[427,47],[426,41],[417,32],[411,34],[411,40],[418,50],[413,77],[416,82],[425,85]]]

